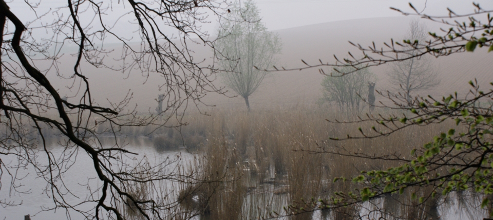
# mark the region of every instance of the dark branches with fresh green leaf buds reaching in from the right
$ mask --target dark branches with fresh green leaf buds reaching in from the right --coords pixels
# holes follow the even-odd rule
[[[352,66],[351,72],[393,62],[406,62],[411,59],[419,59],[424,55],[434,57],[449,56],[453,53],[472,52],[479,48],[487,48],[493,51],[493,23],[490,15],[493,9],[481,7],[472,3],[473,12],[458,14],[447,8],[448,14],[443,16],[431,16],[423,14],[409,4],[414,12],[402,12],[404,15],[415,14],[435,22],[441,22],[448,26],[443,28],[441,34],[430,32],[432,37],[428,41],[416,39],[404,39],[385,43],[385,47],[377,48],[375,44],[366,47],[351,43],[363,53],[363,58],[339,60],[336,63],[323,63],[308,65],[301,68],[287,70],[299,70],[309,68],[325,68],[330,66]],[[486,55],[484,55],[486,56]],[[371,129],[365,131],[359,128],[358,135],[346,135],[346,137],[330,138],[342,141],[348,139],[369,139],[389,136],[410,126],[427,126],[430,124],[455,122],[455,125],[445,131],[437,131],[430,142],[416,146],[411,151],[411,157],[404,157],[392,152],[376,154],[361,154],[358,152],[337,151],[323,149],[317,152],[325,152],[356,158],[375,160],[387,160],[399,162],[400,165],[385,170],[362,171],[352,181],[361,187],[352,192],[338,192],[330,199],[319,200],[316,204],[319,209],[331,209],[346,207],[355,203],[362,203],[372,198],[381,197],[393,193],[403,194],[406,189],[412,190],[410,197],[416,204],[426,204],[438,196],[447,196],[453,191],[470,192],[481,195],[481,208],[487,209],[489,216],[493,216],[493,104],[482,106],[481,102],[493,100],[493,90],[482,90],[477,81],[469,81],[471,89],[467,94],[454,93],[446,97],[435,99],[431,96],[415,97],[410,99],[406,94],[386,94],[393,105],[388,109],[394,109],[399,114],[391,115],[367,115],[356,121],[343,123],[374,122]],[[493,84],[493,83],[491,83]],[[408,114],[401,114],[408,112]],[[340,123],[335,121],[334,123]],[[314,152],[311,152],[314,153]],[[336,178],[335,180],[345,178]],[[414,188],[414,190],[413,190]],[[416,193],[423,188],[431,189],[421,195]],[[417,190],[416,190],[417,189]],[[432,203],[435,203],[432,201]],[[291,209],[293,212],[298,212]],[[312,211],[312,210],[310,210]],[[300,211],[303,212],[303,211]],[[290,213],[289,213],[290,214]],[[363,218],[363,216],[358,216]],[[370,214],[364,216],[369,218]]]

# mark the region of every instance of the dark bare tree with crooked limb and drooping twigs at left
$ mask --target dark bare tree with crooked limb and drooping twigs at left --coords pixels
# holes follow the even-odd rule
[[[16,4],[16,8],[9,8],[9,4]],[[108,132],[116,137],[123,126],[164,126],[189,101],[200,102],[203,93],[218,90],[212,84],[215,69],[194,62],[187,44],[200,43],[214,49],[200,26],[208,22],[208,16],[221,17],[226,6],[220,0],[67,0],[61,5],[0,0],[0,187],[15,191],[23,185],[16,170],[31,167],[47,182],[53,209],[79,212],[90,219],[123,219],[123,210],[117,204],[124,203],[146,219],[166,218],[163,210],[176,203],[140,197],[132,192],[132,186],[146,184],[151,190],[146,193],[156,195],[159,181],[188,182],[193,175],[166,172],[162,167],[170,160],[152,166],[143,166],[142,161],[128,162],[124,158],[134,153],[118,141],[111,147],[103,146],[99,138]],[[27,20],[29,17],[33,20]],[[122,25],[126,31],[123,34],[113,28]],[[120,44],[120,57],[104,44],[108,40]],[[59,60],[69,44],[77,45],[72,68],[60,69]],[[105,58],[115,59],[119,65],[107,65]],[[36,67],[38,61],[50,63],[50,68]],[[157,120],[150,112],[138,113],[128,106],[131,93],[117,102],[94,102],[94,96],[102,94],[91,93],[83,64],[125,74],[143,72],[144,77],[161,76],[166,100],[162,111],[167,111],[168,118]],[[53,77],[72,84],[71,89],[80,91],[78,96],[63,98],[59,93],[63,85],[50,82]],[[98,120],[92,123],[94,118]],[[107,129],[97,130],[102,124]],[[64,138],[59,148],[62,153],[54,152],[46,142],[54,135]],[[87,166],[97,174],[100,188],[88,186],[87,194],[79,197],[82,201],[73,201],[67,197],[77,195],[65,182],[78,175],[70,172],[78,154],[90,157]],[[12,157],[18,160],[17,166],[8,164]],[[8,182],[10,186],[5,188]],[[12,205],[7,200],[0,203]],[[87,204],[93,209],[79,208]]]

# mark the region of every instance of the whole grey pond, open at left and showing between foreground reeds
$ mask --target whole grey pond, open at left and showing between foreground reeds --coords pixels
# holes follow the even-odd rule
[[[88,192],[97,191],[100,186],[98,179],[96,178],[96,173],[93,171],[91,166],[92,160],[84,152],[73,152],[77,151],[74,149],[72,152],[64,151],[63,148],[56,146],[54,142],[49,148],[49,152],[53,156],[63,157],[67,156],[69,153],[75,153],[73,157],[69,157],[72,165],[68,169],[68,172],[63,174],[64,184],[67,191],[64,198],[67,199],[69,203],[78,203],[90,198]],[[184,149],[179,149],[176,151],[157,151],[151,141],[147,139],[132,140],[129,144],[125,146],[125,149],[135,152],[138,155],[132,155],[125,159],[128,163],[133,163],[140,161],[145,157],[150,164],[155,164],[160,161],[164,161],[169,158],[180,158],[175,161],[176,165],[180,165],[185,169],[193,169],[189,166],[183,166],[183,164],[195,164],[197,158],[205,158],[207,155],[198,156],[197,154],[191,154],[186,152]],[[38,162],[43,163],[46,160],[44,157],[44,152],[37,152],[38,157],[36,158]],[[18,159],[15,156],[3,157],[3,162],[5,164],[10,164],[11,166],[16,166]],[[215,159],[218,161],[218,159]],[[290,203],[292,199],[292,193],[289,189],[290,180],[288,178],[289,174],[274,175],[276,173],[274,166],[271,163],[269,166],[269,173],[267,175],[255,175],[252,174],[251,169],[253,169],[252,163],[255,161],[243,161],[245,164],[250,164],[249,166],[242,167],[244,171],[238,179],[241,178],[242,185],[239,187],[237,185],[223,186],[224,191],[219,192],[217,199],[227,201],[228,207],[221,208],[221,216],[229,216],[232,218],[241,219],[251,219],[257,217],[268,216],[268,212],[276,211],[278,213],[283,213],[282,207]],[[179,164],[180,163],[180,164]],[[36,176],[36,172],[32,166],[28,166],[25,169],[18,169],[15,175],[21,180],[16,181],[16,184],[22,185],[17,188],[17,190],[24,193],[18,193],[12,191],[9,187],[9,182],[5,181],[9,179],[6,173],[2,176],[2,188],[0,189],[0,198],[3,202],[11,202],[17,204],[15,206],[2,206],[0,207],[0,219],[23,219],[24,215],[31,215],[31,219],[44,220],[44,219],[83,219],[84,217],[77,212],[69,211],[66,212],[65,209],[50,210],[54,207],[53,200],[51,196],[51,189],[47,186],[45,179]],[[292,180],[291,180],[292,181]],[[293,184],[291,182],[291,184]],[[321,181],[320,184],[328,185],[327,181]],[[168,192],[173,194],[169,196],[168,199],[176,200],[179,192],[181,192],[184,187],[183,185],[173,185],[170,182],[164,182],[162,184]],[[236,188],[235,188],[236,187]],[[220,188],[218,188],[220,189]],[[69,190],[69,191],[68,191]],[[235,192],[235,190],[241,191],[241,193]],[[237,197],[236,200],[232,200],[231,197],[236,195],[241,195]],[[97,195],[95,195],[97,196]],[[326,196],[328,198],[329,194],[320,195],[322,197]],[[197,200],[196,197],[193,199]],[[223,201],[223,203],[224,203]],[[233,205],[232,203],[238,203]],[[373,199],[361,206],[354,206],[345,209],[348,213],[352,213],[355,216],[362,216],[363,219],[371,219],[381,217],[382,214],[380,210],[387,210],[387,212],[393,213],[394,216],[402,217],[417,217],[419,219],[428,218],[432,216],[434,219],[443,220],[454,220],[454,219],[478,219],[487,216],[485,210],[480,209],[481,198],[478,195],[470,192],[453,192],[448,197],[440,197],[434,201],[433,207],[410,207],[403,205],[409,202],[409,198],[399,195],[394,196],[384,196],[381,198]],[[193,200],[189,200],[193,203]],[[212,201],[213,204],[223,204],[221,201]],[[186,204],[181,204],[182,206],[187,206]],[[189,204],[188,204],[189,206]],[[77,208],[82,211],[90,211],[94,207],[94,203],[82,203]],[[239,208],[240,207],[240,208]],[[217,207],[216,207],[217,208]],[[233,210],[231,210],[233,209]],[[238,211],[241,210],[241,211]],[[48,211],[43,211],[48,210]],[[183,209],[188,210],[191,214],[187,215],[192,219],[213,219],[211,216],[193,213],[194,209]],[[231,212],[231,213],[227,213]],[[196,215],[196,216],[194,216]],[[387,219],[393,219],[390,215],[383,216]],[[337,214],[334,211],[315,211],[309,213],[308,215],[302,215],[298,217],[293,217],[293,219],[341,219],[342,215]],[[281,219],[291,219],[288,217],[282,217]]]

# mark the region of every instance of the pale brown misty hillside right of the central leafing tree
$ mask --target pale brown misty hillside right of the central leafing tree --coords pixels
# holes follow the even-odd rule
[[[296,28],[277,30],[283,42],[282,54],[279,56],[277,66],[287,68],[304,67],[305,64],[318,64],[319,59],[324,63],[334,63],[335,54],[339,59],[349,57],[348,51],[354,56],[361,52],[349,44],[348,41],[359,43],[363,46],[375,42],[377,47],[382,47],[383,42],[390,39],[401,42],[408,31],[409,22],[415,17],[382,17],[374,19],[349,20],[330,22],[316,25],[308,25]],[[420,20],[430,31],[440,33],[440,24]],[[487,49],[478,49],[475,52],[453,54],[449,57],[433,60],[433,67],[439,72],[441,84],[432,89],[422,91],[422,95],[432,95],[440,98],[454,91],[467,92],[470,86],[469,80],[475,78],[483,86],[490,89],[488,83],[493,81],[493,75],[488,71],[493,68],[490,62],[493,53],[487,53]],[[329,72],[329,68],[325,68]],[[388,82],[388,66],[371,67],[378,78],[377,90],[388,90],[391,86]],[[250,98],[252,108],[259,106],[290,106],[296,104],[313,104],[321,96],[320,82],[324,76],[318,69],[303,71],[287,71],[273,74],[271,79],[259,88],[258,92]],[[376,97],[381,100],[382,97]],[[241,98],[218,99],[219,105],[242,104]]]

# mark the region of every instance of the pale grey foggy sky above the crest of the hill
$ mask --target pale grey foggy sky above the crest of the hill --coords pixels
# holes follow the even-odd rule
[[[66,0],[29,0],[28,2],[41,3],[39,9],[42,11],[67,5]],[[109,4],[110,1],[101,2]],[[118,2],[112,1],[112,10],[123,11],[124,7],[126,7],[125,11],[128,10],[128,3],[118,4]],[[457,13],[470,13],[475,9],[472,0],[256,0],[256,2],[262,22],[269,30],[371,17],[403,16],[389,8],[412,12],[409,2],[418,10],[424,9],[424,13],[428,15],[447,15],[447,7]],[[491,0],[474,2],[480,3],[485,8],[493,8]],[[7,4],[14,12],[30,10],[24,1],[12,0]],[[28,17],[24,17],[24,20],[30,21]],[[217,27],[217,21],[203,25],[203,29],[209,33],[214,33]]]

